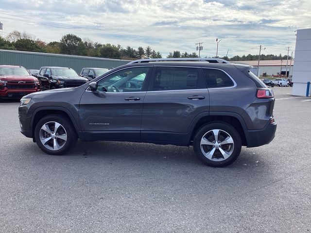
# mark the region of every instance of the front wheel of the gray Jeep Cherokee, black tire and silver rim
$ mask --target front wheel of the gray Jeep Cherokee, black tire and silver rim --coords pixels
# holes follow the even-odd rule
[[[60,126],[56,130],[57,132],[52,132],[55,134],[50,134],[50,133],[47,133],[47,131],[45,130],[41,130],[41,128],[44,125],[49,125],[49,130],[53,131],[56,125],[55,122],[60,124]],[[54,124],[54,128],[53,128],[53,124]],[[54,139],[52,138],[52,136],[56,138]],[[57,136],[59,136],[59,138],[57,138]],[[60,139],[61,136],[66,137],[66,141],[63,139]],[[49,140],[43,145],[41,140],[44,140],[45,138],[49,138],[49,137],[51,137],[52,141]],[[56,140],[55,144],[57,145],[57,147],[60,146],[59,150],[55,150],[55,147],[54,147],[54,150],[51,150],[54,145],[54,140]],[[38,147],[45,153],[52,154],[52,155],[63,155],[66,152],[68,152],[72,147],[74,147],[74,145],[76,144],[77,133],[74,127],[72,126],[72,123],[68,117],[59,115],[59,114],[48,115],[48,116],[43,117],[36,124],[35,141]]]

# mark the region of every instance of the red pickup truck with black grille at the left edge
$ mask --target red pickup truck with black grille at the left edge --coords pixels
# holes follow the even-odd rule
[[[0,98],[21,98],[40,91],[38,79],[31,76],[24,67],[0,66]]]

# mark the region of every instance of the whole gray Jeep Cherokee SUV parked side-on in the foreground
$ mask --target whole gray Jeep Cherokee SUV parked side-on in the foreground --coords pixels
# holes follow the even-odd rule
[[[29,94],[18,108],[21,133],[53,155],[78,138],[192,145],[208,166],[272,141],[274,94],[250,66],[176,60],[137,60],[79,87]]]

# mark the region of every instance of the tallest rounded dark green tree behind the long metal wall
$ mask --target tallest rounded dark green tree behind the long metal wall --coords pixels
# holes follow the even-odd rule
[[[80,37],[74,34],[67,34],[61,38],[60,50],[65,54],[86,55],[85,44]]]

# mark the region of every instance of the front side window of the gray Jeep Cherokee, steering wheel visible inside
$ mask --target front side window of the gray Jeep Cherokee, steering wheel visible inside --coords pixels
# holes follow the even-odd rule
[[[138,92],[142,90],[149,67],[131,67],[119,70],[97,83],[97,91]]]

